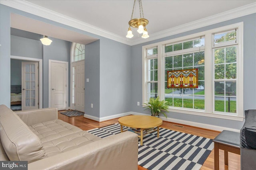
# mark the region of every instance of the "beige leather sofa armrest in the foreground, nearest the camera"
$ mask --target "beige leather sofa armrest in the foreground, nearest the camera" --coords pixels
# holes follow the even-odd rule
[[[138,135],[126,131],[28,164],[28,170],[138,170]]]

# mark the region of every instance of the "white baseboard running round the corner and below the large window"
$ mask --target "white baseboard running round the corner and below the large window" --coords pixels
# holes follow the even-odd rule
[[[101,121],[107,121],[107,120],[110,120],[110,119],[115,119],[115,118],[122,117],[122,116],[127,116],[127,115],[149,115],[149,114],[130,111],[130,112],[120,113],[120,114],[106,116],[106,117],[95,117],[95,116],[84,114],[84,117],[88,118],[88,119],[98,121],[98,122],[101,122]],[[163,117],[163,116],[160,116],[160,118],[162,120],[168,121],[168,122],[179,123],[179,124],[189,125],[189,126],[194,126],[194,127],[200,127],[200,128],[210,129],[210,130],[214,130],[214,131],[228,130],[228,131],[240,132],[240,129],[232,129],[232,128],[229,128],[229,127],[209,125],[209,124],[205,124],[205,123],[185,121],[185,120],[173,119],[173,118],[169,118],[169,117],[166,118],[166,117]]]

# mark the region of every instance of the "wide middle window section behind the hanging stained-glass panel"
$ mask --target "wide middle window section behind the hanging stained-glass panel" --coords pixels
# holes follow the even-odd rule
[[[171,107],[204,109],[204,37],[164,45],[164,99]],[[167,88],[167,71],[198,68],[198,88]]]

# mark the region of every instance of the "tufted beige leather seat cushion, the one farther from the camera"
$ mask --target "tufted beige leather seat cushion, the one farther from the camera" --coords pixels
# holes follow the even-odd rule
[[[82,129],[59,119],[37,123],[29,128],[41,139],[42,143],[82,131]]]

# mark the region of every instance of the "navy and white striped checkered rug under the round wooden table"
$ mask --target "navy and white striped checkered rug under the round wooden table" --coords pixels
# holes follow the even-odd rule
[[[130,128],[123,127],[123,130]],[[116,123],[88,132],[105,138],[120,133]],[[157,132],[143,137],[143,145],[138,140],[138,164],[148,170],[199,170],[214,148],[212,139],[172,131],[160,127]]]

